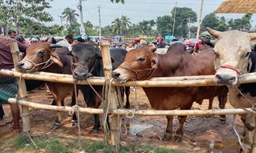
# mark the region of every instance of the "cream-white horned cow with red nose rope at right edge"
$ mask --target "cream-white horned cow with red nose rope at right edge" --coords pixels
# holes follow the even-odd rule
[[[207,31],[217,40],[214,45],[216,82],[227,85],[230,103],[235,108],[250,108],[256,104],[256,83],[240,84],[239,75],[256,72],[256,33],[241,31]],[[242,115],[244,122],[243,148],[245,152],[256,152],[255,113]]]

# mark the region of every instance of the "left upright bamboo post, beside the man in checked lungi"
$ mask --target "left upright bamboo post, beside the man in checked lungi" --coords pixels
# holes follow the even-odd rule
[[[19,71],[17,68],[17,64],[20,61],[20,51],[17,42],[12,42],[10,44],[11,52],[12,52],[12,58],[13,58],[13,64],[16,71]],[[19,81],[19,80],[18,80]],[[19,82],[19,92],[20,92],[20,98],[22,100],[26,100],[27,97],[27,89],[25,80],[22,78]],[[30,131],[30,118],[29,118],[29,107],[28,106],[20,106],[20,113],[22,115],[22,122],[23,122],[23,132],[27,133]]]

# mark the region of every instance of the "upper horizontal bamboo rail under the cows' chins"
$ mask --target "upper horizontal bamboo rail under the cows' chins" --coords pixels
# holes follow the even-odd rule
[[[74,84],[76,81],[72,78],[72,75],[56,75],[55,73],[20,73],[17,71],[10,71],[8,69],[1,69],[1,75],[8,75],[11,77],[22,78],[28,80],[42,80],[46,82],[61,82],[66,84]],[[239,76],[241,84],[248,84],[256,82],[256,73],[247,73]],[[103,85],[104,77],[91,77],[87,79],[92,85]],[[86,80],[77,80],[76,84],[88,84]],[[152,78],[150,80],[137,81],[137,87],[198,87],[198,86],[218,86],[215,82],[214,75],[202,75],[202,76],[186,76],[186,77],[161,77]],[[112,85],[115,86],[126,86],[132,87],[134,82],[126,82],[125,84],[120,84],[118,82],[113,82]]]

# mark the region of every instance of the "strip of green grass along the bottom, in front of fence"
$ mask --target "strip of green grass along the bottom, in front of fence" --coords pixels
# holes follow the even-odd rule
[[[54,138],[52,140],[47,140],[45,136],[36,136],[33,138],[36,145],[40,148],[39,152],[76,152],[79,149],[77,145],[78,140],[60,140],[58,138]],[[19,152],[38,152],[38,149],[30,142],[29,138],[26,136],[16,136],[12,138],[12,140],[8,141],[8,145],[14,148],[15,150],[19,150]],[[115,147],[110,145],[105,145],[102,142],[92,142],[88,140],[81,140],[81,147],[85,152],[95,153],[115,153]],[[120,153],[188,153],[184,150],[170,150],[163,148],[155,148],[147,145],[129,145],[120,147]]]

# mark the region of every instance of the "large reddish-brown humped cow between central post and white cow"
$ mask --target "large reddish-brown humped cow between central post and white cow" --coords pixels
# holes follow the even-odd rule
[[[213,75],[213,52],[190,55],[182,43],[175,43],[165,55],[154,53],[156,48],[142,47],[127,53],[125,61],[112,75],[119,82],[127,80],[148,80],[152,77],[179,77],[189,75]],[[143,87],[150,105],[156,110],[189,110],[194,101],[210,99],[221,94],[227,101],[225,87]],[[173,116],[168,120],[163,140],[170,140],[173,133]],[[179,129],[175,141],[180,142],[186,116],[179,116]]]

